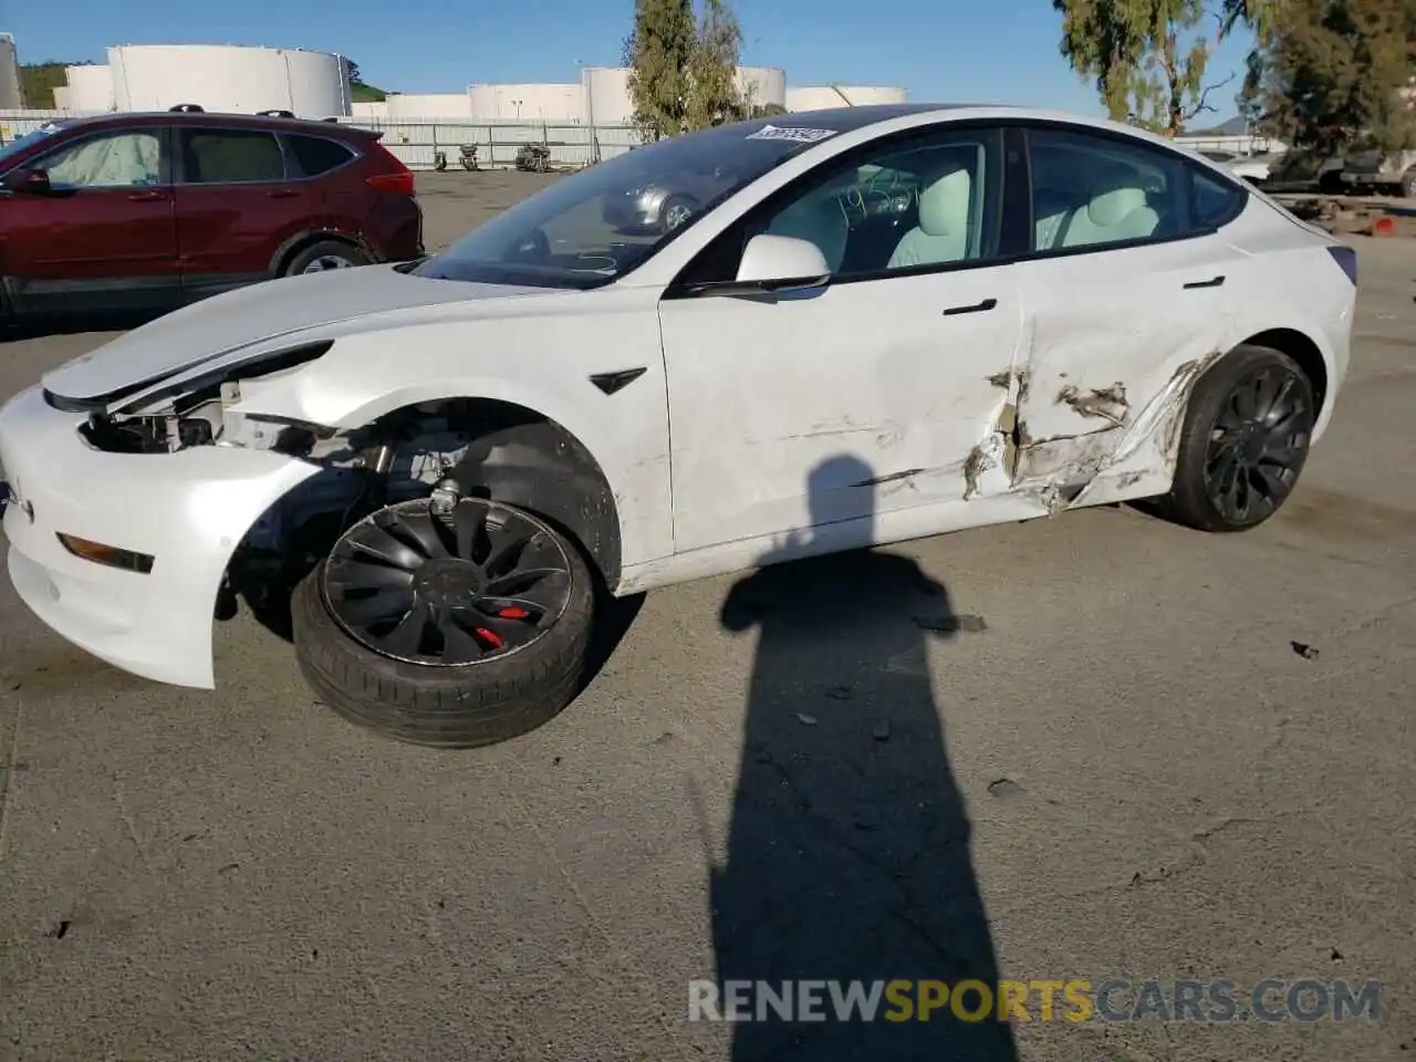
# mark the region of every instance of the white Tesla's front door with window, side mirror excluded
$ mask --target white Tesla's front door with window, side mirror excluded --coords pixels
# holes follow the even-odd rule
[[[1007,487],[995,377],[1022,329],[1015,272],[990,263],[1001,135],[935,132],[827,166],[729,228],[660,304],[678,551],[844,521],[878,541],[875,517]],[[896,194],[862,197],[882,170]],[[712,272],[759,232],[816,242],[831,282],[701,285],[731,279]]]

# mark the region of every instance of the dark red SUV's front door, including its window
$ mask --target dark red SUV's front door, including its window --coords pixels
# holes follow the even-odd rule
[[[156,310],[180,297],[167,127],[67,139],[24,169],[47,195],[0,193],[0,276],[18,313]]]

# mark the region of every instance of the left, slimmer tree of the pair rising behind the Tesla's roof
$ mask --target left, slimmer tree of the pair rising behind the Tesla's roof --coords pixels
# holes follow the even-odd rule
[[[630,68],[632,120],[646,142],[684,132],[695,45],[692,0],[634,0],[624,65]]]

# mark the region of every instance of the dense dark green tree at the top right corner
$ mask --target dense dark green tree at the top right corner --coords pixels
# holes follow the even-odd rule
[[[1416,146],[1416,0],[1286,0],[1249,58],[1242,112],[1320,156]]]

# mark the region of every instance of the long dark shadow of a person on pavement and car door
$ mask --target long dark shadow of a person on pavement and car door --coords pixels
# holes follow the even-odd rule
[[[827,983],[816,993],[824,1020],[794,1011],[784,1021],[779,1003],[745,997],[750,1020],[732,1027],[735,1062],[1017,1058],[997,1004],[970,1021],[944,1003],[926,1021],[912,986],[901,997],[909,1012],[882,993],[872,1020],[857,1011],[843,1021],[830,987],[838,981],[848,1000],[852,981],[867,995],[872,983],[902,978],[998,984],[926,657],[926,639],[981,630],[983,620],[956,616],[947,589],[896,554],[779,564],[810,552],[810,535],[834,521],[872,520],[874,476],[850,456],[818,464],[809,477],[814,532],[763,556],[719,617],[729,632],[758,630],[726,861],[709,886],[722,1005],[732,981],[766,981],[773,993],[786,981],[793,1007],[803,981]],[[980,1000],[966,993],[964,1014]]]

